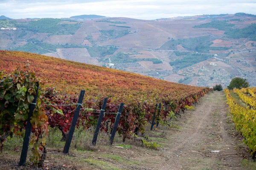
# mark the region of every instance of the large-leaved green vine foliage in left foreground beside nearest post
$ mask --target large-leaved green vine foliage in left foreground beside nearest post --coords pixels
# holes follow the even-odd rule
[[[28,118],[29,104],[34,99],[33,95],[37,89],[35,82],[38,80],[35,73],[19,69],[0,78],[0,135],[12,136],[13,133],[16,134],[20,130],[23,121]],[[39,90],[39,96],[40,94]],[[40,100],[39,97],[39,104],[41,104]],[[40,108],[39,104],[37,104],[38,108]]]

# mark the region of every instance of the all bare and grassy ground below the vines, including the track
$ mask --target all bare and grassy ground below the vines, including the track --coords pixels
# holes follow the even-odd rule
[[[149,124],[150,125],[150,124]],[[200,99],[195,109],[181,113],[172,128],[147,127],[149,141],[162,145],[158,150],[141,147],[140,141],[126,141],[130,149],[115,147],[122,144],[115,139],[114,147],[97,143],[94,151],[48,149],[44,169],[67,170],[244,170],[244,160],[251,160],[241,135],[236,132],[223,92],[210,92]],[[97,141],[98,142],[98,141]],[[13,152],[12,152],[13,153]],[[17,167],[20,152],[0,154],[0,169]],[[33,169],[24,167],[24,169]],[[36,169],[36,168],[35,168]]]

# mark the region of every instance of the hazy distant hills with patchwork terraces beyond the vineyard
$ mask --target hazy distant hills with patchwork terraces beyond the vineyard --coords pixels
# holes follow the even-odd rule
[[[157,20],[98,17],[104,16],[0,20],[0,28],[5,28],[0,30],[0,49],[108,66],[183,84],[227,86],[238,76],[256,86],[256,15]]]

